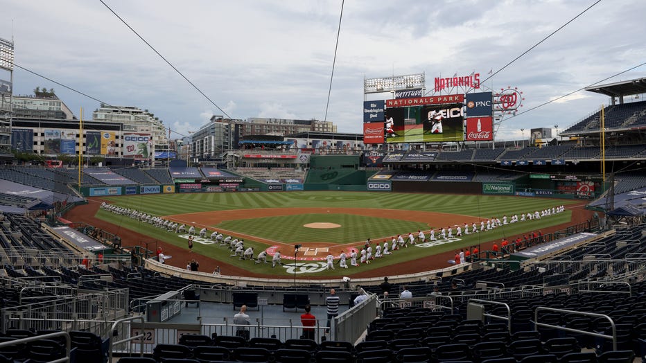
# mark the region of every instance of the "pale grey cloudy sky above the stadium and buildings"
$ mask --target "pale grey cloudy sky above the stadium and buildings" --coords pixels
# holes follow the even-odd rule
[[[232,118],[324,119],[342,1],[104,1]],[[425,73],[427,89],[455,73],[487,78],[593,3],[347,0],[327,120],[362,132],[364,78]],[[20,67],[111,105],[149,109],[180,134],[223,114],[101,1],[0,0],[0,9],[0,37],[14,39]],[[631,69],[646,62],[645,14],[643,0],[601,1],[484,86],[518,87],[525,111]],[[645,76],[642,66],[603,83]],[[77,116],[98,107],[16,69],[15,94],[35,87],[55,89]],[[563,130],[607,103],[580,91],[506,118],[496,137]]]

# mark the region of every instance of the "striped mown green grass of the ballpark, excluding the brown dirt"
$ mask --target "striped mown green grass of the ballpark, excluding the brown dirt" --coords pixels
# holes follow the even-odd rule
[[[406,211],[436,211],[442,213],[453,213],[465,215],[465,222],[473,220],[475,217],[491,218],[497,216],[502,218],[503,215],[512,215],[534,210],[542,210],[561,204],[575,204],[579,201],[567,200],[550,200],[544,198],[525,198],[509,196],[489,196],[489,195],[429,195],[429,194],[402,194],[402,193],[355,193],[355,192],[288,192],[288,193],[196,193],[196,194],[170,194],[170,195],[137,195],[130,197],[108,197],[112,204],[134,208],[139,211],[146,211],[153,215],[175,215],[180,213],[192,213],[199,211],[220,211],[232,209],[250,209],[250,208],[272,208],[272,207],[348,207],[348,208],[372,208],[372,209],[400,209]],[[149,237],[146,241],[132,241],[132,245],[138,245],[139,242],[152,242],[161,240],[172,245],[186,248],[186,240],[179,238],[175,233],[168,233],[165,230],[157,229],[150,224],[132,220],[121,215],[99,210],[97,218],[107,220],[119,226],[137,231]],[[374,242],[383,242],[383,236],[390,236],[392,233],[408,233],[408,231],[417,231],[421,229],[415,222],[406,222],[402,220],[391,220],[388,218],[367,218],[357,215],[343,215],[335,213],[331,215],[294,215],[274,218],[256,218],[254,220],[237,220],[225,221],[220,227],[234,229],[241,233],[250,233],[256,235],[256,231],[263,230],[264,233],[274,233],[272,240],[282,240],[283,242],[299,242],[301,235],[299,229],[306,220],[313,222],[329,222],[324,218],[339,218],[339,220],[351,220],[357,218],[354,222],[342,222],[338,224],[351,225],[352,230],[347,231],[347,238],[333,238],[328,242],[347,243],[356,240],[365,240],[372,238]],[[313,218],[313,219],[309,219]],[[570,211],[550,215],[548,218],[533,220],[516,224],[507,224],[503,227],[487,231],[486,233],[477,233],[475,235],[463,236],[462,240],[451,242],[445,245],[439,245],[428,248],[413,247],[397,251],[392,256],[375,260],[371,265],[363,265],[358,269],[374,269],[397,263],[405,263],[424,256],[431,256],[445,251],[455,251],[463,247],[478,245],[490,240],[499,240],[503,237],[515,237],[527,231],[544,229],[556,224],[562,224],[570,221]],[[429,221],[433,225],[432,221]],[[410,224],[413,223],[413,224]],[[227,226],[227,227],[225,227]],[[383,229],[382,229],[383,227]],[[307,240],[324,241],[324,235],[328,234],[329,229],[311,229],[308,233],[317,234],[317,238],[309,237]],[[118,231],[116,232],[117,234]],[[304,233],[304,232],[303,232]],[[281,237],[284,236],[284,237]],[[302,235],[302,240],[306,240]],[[390,242],[390,241],[389,241]],[[128,241],[124,241],[128,245]],[[265,249],[268,245],[262,244],[250,238],[245,238],[245,245],[252,246],[257,252]],[[229,258],[229,250],[216,245],[195,244],[193,251],[204,256],[209,256],[217,260],[225,261],[229,264],[236,265],[245,269],[253,269],[254,272],[266,274],[289,274],[284,269],[272,269],[268,265],[253,265],[250,261],[240,261],[237,258]],[[291,253],[292,251],[283,251]],[[334,251],[338,254],[339,251]],[[182,265],[183,261],[169,260],[172,265]],[[283,260],[283,262],[285,262]],[[448,264],[447,264],[448,266]],[[317,276],[336,276],[339,270],[331,272],[319,272]]]

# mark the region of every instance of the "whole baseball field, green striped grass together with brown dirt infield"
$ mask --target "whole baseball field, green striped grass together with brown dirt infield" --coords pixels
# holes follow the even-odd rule
[[[195,238],[193,253],[174,256],[166,261],[168,265],[186,266],[186,256],[205,258],[216,264],[230,265],[254,275],[291,276],[299,264],[307,264],[308,274],[316,276],[351,275],[354,272],[369,272],[391,265],[415,263],[420,259],[481,245],[501,238],[516,238],[529,231],[545,230],[570,223],[573,211],[582,208],[576,200],[554,200],[534,197],[496,195],[442,195],[379,192],[267,192],[267,193],[194,193],[158,194],[121,197],[102,197],[101,200],[129,209],[137,209],[151,215],[195,226],[196,230],[206,227],[207,238]],[[455,227],[480,220],[511,218],[514,214],[542,211],[555,206],[566,206],[566,211],[547,215],[539,220],[527,220],[484,231],[455,236]],[[188,252],[186,233],[166,231],[152,225],[98,209],[99,220],[109,222],[119,229],[128,229],[145,236],[146,242],[155,241],[173,248],[175,254]],[[426,232],[433,228],[436,236],[442,227],[453,227],[453,238],[435,242],[410,245],[389,256],[376,258],[372,263],[350,267],[343,272],[324,269],[324,258],[332,254],[338,258],[342,251],[363,247],[370,238],[372,247],[377,243],[390,242],[393,236],[408,236],[412,232]],[[209,240],[212,231],[224,236],[244,239],[245,248],[254,247],[254,257],[260,251],[268,251],[268,262],[256,264],[252,260],[240,260],[230,256],[232,251]],[[115,231],[118,232],[118,231]],[[117,233],[119,234],[119,233]],[[136,245],[142,241],[130,241]],[[124,246],[128,245],[124,241]],[[294,261],[294,245],[302,244]],[[481,250],[484,250],[481,248]],[[283,266],[272,268],[271,256],[280,251]],[[349,262],[349,261],[348,261]],[[434,260],[435,265],[449,266],[442,257]],[[213,264],[211,264],[213,265]],[[209,265],[209,267],[211,266]],[[317,267],[318,266],[318,267]],[[291,267],[291,268],[290,268]],[[316,267],[316,268],[314,268]],[[437,267],[436,267],[437,268]],[[204,269],[201,269],[204,270]],[[300,270],[299,270],[300,271]],[[309,277],[309,276],[308,276]]]

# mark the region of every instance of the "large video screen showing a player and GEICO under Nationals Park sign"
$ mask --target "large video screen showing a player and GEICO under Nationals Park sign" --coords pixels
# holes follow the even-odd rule
[[[386,109],[387,143],[464,141],[462,103]]]

